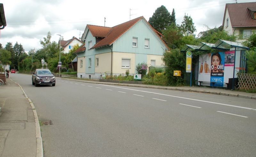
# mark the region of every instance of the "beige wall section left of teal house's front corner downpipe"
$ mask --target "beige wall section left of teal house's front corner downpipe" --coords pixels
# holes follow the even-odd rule
[[[99,66],[97,67],[96,58],[99,58]],[[111,72],[111,52],[95,55],[95,73]]]

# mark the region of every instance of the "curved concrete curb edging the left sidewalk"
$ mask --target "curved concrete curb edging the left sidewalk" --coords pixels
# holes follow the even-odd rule
[[[12,81],[12,79],[10,79],[10,80]],[[12,81],[12,82],[16,83],[15,81]],[[19,83],[16,83],[16,84],[18,84],[20,86]],[[40,130],[39,120],[38,120],[35,106],[32,103],[32,101],[28,98],[27,94],[25,93],[25,91],[23,90],[23,88],[21,86],[20,86],[20,89],[24,93],[25,97],[28,99],[28,102],[30,103],[33,113],[34,113],[35,125],[36,125],[36,157],[43,157],[44,156],[43,140],[42,140],[42,136],[41,136],[41,130]]]

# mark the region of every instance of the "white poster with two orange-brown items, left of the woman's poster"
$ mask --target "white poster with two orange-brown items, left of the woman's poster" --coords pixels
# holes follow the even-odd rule
[[[210,82],[211,77],[211,56],[212,54],[202,54],[199,56],[198,81]],[[207,84],[205,84],[207,85]],[[209,85],[209,84],[208,84]]]

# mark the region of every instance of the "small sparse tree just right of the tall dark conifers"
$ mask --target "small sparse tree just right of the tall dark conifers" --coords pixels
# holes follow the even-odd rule
[[[180,28],[184,35],[193,35],[196,31],[196,27],[194,26],[192,18],[186,15],[186,13],[183,21],[181,22]]]

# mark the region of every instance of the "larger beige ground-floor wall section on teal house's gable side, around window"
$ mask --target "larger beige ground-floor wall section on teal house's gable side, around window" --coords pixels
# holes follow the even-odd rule
[[[131,59],[130,68],[122,68],[122,58]],[[113,74],[125,74],[127,69],[129,69],[130,74],[135,73],[135,54],[113,52]]]

